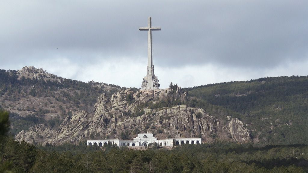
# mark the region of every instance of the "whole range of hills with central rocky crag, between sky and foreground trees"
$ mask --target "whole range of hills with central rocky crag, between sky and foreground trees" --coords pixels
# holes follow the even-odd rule
[[[34,144],[86,139],[201,137],[203,142],[308,142],[308,77],[261,78],[158,92],[57,77],[43,69],[0,70],[0,108],[11,133]]]

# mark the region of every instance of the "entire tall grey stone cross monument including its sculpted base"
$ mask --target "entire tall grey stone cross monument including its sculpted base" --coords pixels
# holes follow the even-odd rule
[[[160,27],[152,27],[151,17],[148,18],[148,26],[140,27],[140,31],[148,31],[148,66],[147,75],[143,78],[141,87],[143,90],[158,89],[160,84],[154,74],[154,66],[152,59],[152,30],[160,30]]]

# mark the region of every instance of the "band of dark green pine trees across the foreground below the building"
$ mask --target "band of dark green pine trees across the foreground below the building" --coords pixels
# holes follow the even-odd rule
[[[103,148],[64,144],[34,147],[6,139],[1,164],[13,172],[305,172],[306,145],[266,146],[222,144],[182,145],[172,150],[148,147]]]

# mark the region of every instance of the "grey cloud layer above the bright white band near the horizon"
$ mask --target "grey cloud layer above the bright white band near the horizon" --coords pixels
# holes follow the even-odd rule
[[[61,55],[79,63],[147,56],[154,64],[273,68],[307,59],[307,1],[0,2],[0,58],[29,63]],[[2,68],[4,65],[2,65]]]

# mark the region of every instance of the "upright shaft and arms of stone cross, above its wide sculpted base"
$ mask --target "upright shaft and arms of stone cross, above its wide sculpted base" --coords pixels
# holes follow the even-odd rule
[[[148,31],[148,68],[153,66],[152,59],[152,30],[160,30],[160,27],[152,27],[151,17],[148,17],[148,26],[140,27],[140,31]],[[147,74],[152,74],[152,70],[148,70]]]

